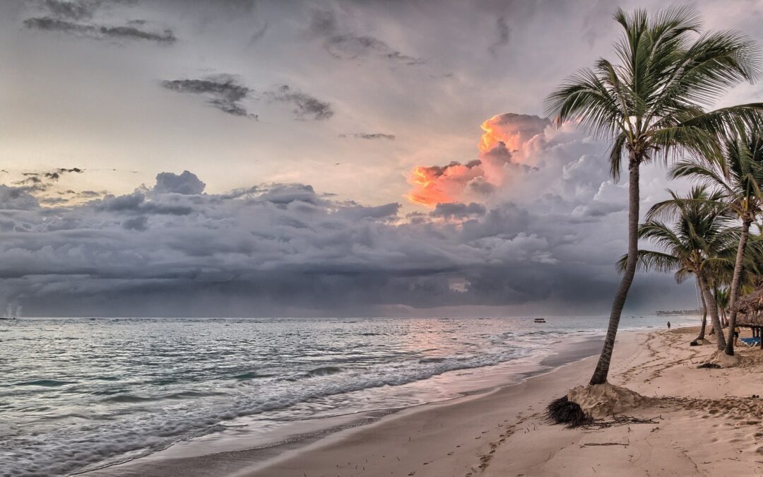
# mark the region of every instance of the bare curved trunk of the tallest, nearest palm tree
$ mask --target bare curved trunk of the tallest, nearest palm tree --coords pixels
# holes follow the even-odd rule
[[[628,298],[630,284],[636,274],[636,264],[639,261],[639,165],[641,157],[630,153],[628,161],[628,259],[626,261],[623,279],[617,288],[617,295],[612,303],[610,312],[610,324],[607,326],[607,337],[604,338],[604,347],[601,349],[599,362],[596,364],[594,375],[591,376],[590,385],[604,384],[610,372],[610,360],[615,346],[617,328],[620,327],[620,314],[623,313],[625,300]]]

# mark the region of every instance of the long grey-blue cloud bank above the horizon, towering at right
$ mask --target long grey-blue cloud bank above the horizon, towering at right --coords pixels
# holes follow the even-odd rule
[[[511,196],[407,218],[397,203],[340,201],[303,184],[212,194],[188,171],[68,207],[2,185],[0,300],[33,315],[599,311],[625,244],[623,190],[607,181],[600,145],[571,131],[542,136],[538,165],[499,189]],[[665,295],[670,280],[637,280],[629,305]]]

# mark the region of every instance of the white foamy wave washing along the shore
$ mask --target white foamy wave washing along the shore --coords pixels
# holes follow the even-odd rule
[[[11,437],[0,444],[0,467],[8,475],[66,474],[122,454],[147,454],[177,440],[221,430],[221,423],[237,417],[285,408],[312,398],[385,385],[404,385],[444,372],[491,366],[527,353],[528,350],[512,347],[481,355],[421,359],[415,364],[385,363],[363,369],[322,366],[301,373],[301,379],[266,382],[256,388],[256,394],[253,390],[223,393],[225,398],[214,404],[189,400],[193,404],[179,403],[151,414],[127,416],[119,426],[109,421],[87,421],[80,427],[53,430],[45,440]],[[111,396],[105,401],[131,403],[167,398],[172,396],[150,398],[125,394]]]

